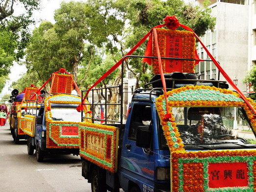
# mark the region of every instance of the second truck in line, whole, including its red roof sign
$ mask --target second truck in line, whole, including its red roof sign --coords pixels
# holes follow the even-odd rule
[[[40,104],[40,108],[35,111],[28,106],[24,116],[27,152],[32,155],[36,150],[38,162],[42,162],[48,153],[79,154],[80,114],[76,108],[81,97],[71,95],[77,85],[73,75],[67,74],[64,69],[52,73],[50,79],[50,93],[38,94],[45,83],[37,93],[32,94],[31,100]]]

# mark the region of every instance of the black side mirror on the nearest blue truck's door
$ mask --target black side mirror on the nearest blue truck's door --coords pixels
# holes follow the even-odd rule
[[[152,130],[150,126],[138,126],[136,135],[136,146],[150,148]]]

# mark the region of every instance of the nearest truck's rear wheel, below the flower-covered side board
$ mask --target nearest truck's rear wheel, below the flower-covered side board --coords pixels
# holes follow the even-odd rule
[[[105,180],[99,178],[99,173],[97,169],[93,169],[91,175],[92,175],[92,180],[91,180],[92,192],[106,192],[106,182]]]

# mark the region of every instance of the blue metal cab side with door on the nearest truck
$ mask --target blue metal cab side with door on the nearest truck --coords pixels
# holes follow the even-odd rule
[[[120,162],[124,191],[170,191],[170,152],[162,141],[156,97],[140,91],[132,97]]]

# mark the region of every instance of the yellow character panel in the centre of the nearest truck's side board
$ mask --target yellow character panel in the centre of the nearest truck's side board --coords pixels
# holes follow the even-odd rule
[[[87,149],[104,157],[104,136],[87,134]]]

